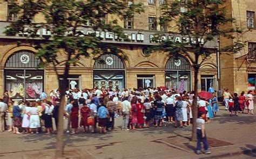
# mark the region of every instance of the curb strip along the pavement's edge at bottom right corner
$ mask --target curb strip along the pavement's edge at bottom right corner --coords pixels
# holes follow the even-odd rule
[[[235,151],[235,152],[231,152],[231,153],[223,153],[223,154],[219,154],[219,155],[211,155],[211,156],[207,156],[207,157],[199,157],[199,158],[200,159],[222,158],[222,157],[237,156],[237,155],[241,155],[241,154],[252,154],[252,153],[256,153],[256,148],[254,148],[254,149],[239,150],[239,151]]]

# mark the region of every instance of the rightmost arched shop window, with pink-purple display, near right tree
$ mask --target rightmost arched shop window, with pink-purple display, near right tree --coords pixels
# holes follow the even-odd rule
[[[177,91],[191,90],[191,66],[183,56],[170,57],[165,66],[165,86]]]

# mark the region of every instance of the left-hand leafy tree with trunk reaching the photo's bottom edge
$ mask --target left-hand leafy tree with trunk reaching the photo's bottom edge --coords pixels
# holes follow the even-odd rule
[[[122,52],[117,47],[102,42],[100,32],[114,33],[118,38],[127,38],[118,20],[133,17],[134,13],[143,11],[141,4],[127,5],[113,0],[38,0],[24,1],[22,5],[13,4],[13,12],[19,12],[19,19],[6,27],[6,35],[23,34],[28,42],[38,52],[37,58],[42,58],[44,66],[55,69],[57,76],[62,75],[60,83],[60,107],[58,117],[58,134],[56,142],[56,157],[61,157],[64,150],[63,142],[63,111],[65,99],[65,85],[69,76],[70,66],[76,66],[81,57],[97,54]],[[33,17],[43,17],[41,23],[34,23]],[[106,23],[105,16],[116,16]],[[83,28],[91,27],[94,32],[86,34]],[[49,35],[38,35],[38,31],[46,29]],[[65,58],[65,69],[60,71],[58,57]]]

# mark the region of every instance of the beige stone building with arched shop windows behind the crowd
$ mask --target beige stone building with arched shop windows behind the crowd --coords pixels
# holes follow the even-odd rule
[[[127,3],[136,2],[144,4],[145,12],[137,14],[133,19],[119,21],[119,24],[125,28],[125,33],[129,35],[130,41],[117,41],[111,33],[99,33],[104,41],[122,49],[128,59],[124,60],[122,56],[113,54],[100,57],[106,61],[105,64],[96,63],[92,57],[80,59],[76,67],[71,67],[69,85],[66,87],[84,89],[104,86],[122,89],[167,86],[180,91],[192,90],[193,72],[191,62],[186,57],[180,56],[177,60],[164,53],[152,53],[148,57],[144,54],[147,47],[156,45],[151,41],[153,34],[165,33],[172,28],[159,25],[159,5],[163,1],[134,0]],[[17,3],[19,3],[18,0]],[[18,18],[18,15],[9,13],[8,4],[3,0],[0,3],[1,31]],[[105,18],[108,21],[112,17]],[[34,20],[37,23],[42,19],[38,15]],[[90,28],[84,29],[84,32],[90,32]],[[42,29],[39,34],[48,35],[48,32]],[[178,34],[165,34],[164,38],[177,41],[183,39]],[[17,41],[21,41],[21,45],[17,46]],[[215,49],[217,43],[212,42],[207,46]],[[49,94],[52,89],[59,87],[58,82],[62,77],[57,77],[52,67],[37,69],[40,61],[35,59],[36,52],[35,48],[25,43],[24,37],[6,37],[2,32],[0,33],[0,94],[8,90],[10,96],[15,99],[24,98],[24,96],[26,99],[34,99],[38,98],[42,91]],[[59,71],[63,70],[64,62],[60,59],[60,64],[57,66]],[[224,68],[224,64],[222,67]],[[207,90],[210,85],[217,89],[216,78],[217,64],[213,55],[200,68],[199,90]],[[246,80],[244,79],[244,82]]]

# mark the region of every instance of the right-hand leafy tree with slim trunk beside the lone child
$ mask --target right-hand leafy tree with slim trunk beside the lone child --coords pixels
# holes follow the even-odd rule
[[[222,53],[237,53],[244,44],[235,39],[235,35],[241,34],[238,27],[233,27],[234,19],[227,16],[226,9],[221,7],[221,0],[188,0],[186,3],[180,0],[164,4],[161,6],[160,24],[176,24],[176,31],[169,33],[181,34],[186,37],[185,41],[172,39],[161,39],[161,35],[155,35],[154,41],[159,45],[152,46],[147,50],[167,52],[170,56],[178,58],[179,54],[184,55],[192,63],[194,73],[194,100],[193,100],[193,129],[192,141],[196,140],[196,119],[197,119],[197,97],[198,97],[198,73],[201,64],[210,59],[217,49],[208,49],[208,42],[217,42],[217,37],[224,36],[233,40],[231,45],[221,48]],[[225,27],[221,27],[225,26]]]

